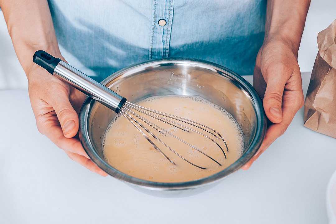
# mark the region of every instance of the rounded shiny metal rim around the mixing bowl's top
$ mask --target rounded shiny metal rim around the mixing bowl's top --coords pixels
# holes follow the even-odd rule
[[[205,65],[211,65],[214,67],[214,69],[224,72],[225,75],[228,77],[233,78],[235,81],[237,81],[240,85],[244,86],[248,90],[248,95],[252,98],[252,101],[254,103],[254,109],[256,112],[256,118],[257,118],[257,125],[256,125],[256,133],[253,138],[253,141],[250,144],[250,147],[243,153],[243,155],[233,164],[225,168],[224,170],[215,173],[211,176],[204,177],[197,180],[192,181],[186,181],[186,182],[174,182],[174,183],[164,183],[164,182],[154,182],[154,181],[147,181],[142,180],[139,178],[132,177],[128,174],[125,174],[115,168],[113,168],[111,165],[109,165],[106,161],[104,161],[98,153],[95,151],[91,140],[89,138],[88,134],[88,118],[91,114],[91,108],[93,104],[95,103],[95,100],[93,100],[90,97],[87,97],[82,105],[82,108],[80,110],[79,114],[79,138],[83,145],[84,150],[90,157],[90,159],[97,164],[99,168],[107,172],[109,175],[119,179],[126,181],[132,185],[138,185],[140,187],[151,189],[151,190],[181,190],[181,189],[190,189],[190,188],[196,188],[200,186],[205,186],[214,182],[217,182],[218,180],[222,179],[225,176],[228,176],[229,174],[237,171],[240,169],[244,164],[246,164],[257,152],[259,149],[262,140],[265,136],[266,132],[266,117],[263,110],[262,101],[260,99],[260,96],[256,92],[256,90],[241,76],[236,74],[235,72],[225,68],[224,66],[221,66],[219,64],[209,62],[206,60],[200,60],[200,59],[191,59],[191,58],[163,58],[163,59],[152,59],[141,63],[132,64],[130,66],[127,66],[126,68],[123,68],[112,75],[108,76],[106,79],[104,79],[101,84],[106,85],[111,80],[113,80],[115,77],[120,75],[121,73],[124,73],[127,70],[134,69],[138,66],[148,65],[148,64],[166,64],[166,63],[182,63],[182,62],[192,62],[192,63],[201,63]],[[222,75],[222,74],[220,74]],[[222,75],[223,76],[223,75]]]

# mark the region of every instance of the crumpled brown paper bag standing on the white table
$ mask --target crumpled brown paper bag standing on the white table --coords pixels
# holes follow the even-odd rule
[[[336,138],[336,20],[318,34],[315,59],[304,102],[304,126]]]

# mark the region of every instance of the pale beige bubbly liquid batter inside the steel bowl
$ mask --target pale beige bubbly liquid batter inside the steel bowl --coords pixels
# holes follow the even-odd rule
[[[206,137],[195,132],[185,132],[141,114],[141,116],[202,150],[222,164],[222,166],[219,166],[194,148],[170,135],[166,134],[164,136],[150,126],[145,125],[146,128],[184,158],[207,169],[203,170],[185,162],[142,129],[145,134],[150,136],[156,146],[176,164],[173,165],[126,118],[118,116],[111,122],[104,135],[103,151],[108,163],[123,173],[157,182],[190,181],[210,176],[225,169],[242,154],[243,133],[236,120],[223,108],[211,104],[203,98],[185,96],[152,97],[139,102],[138,105],[190,119],[211,127],[222,135],[229,151],[226,151],[222,141],[212,136],[225,150],[227,159],[224,159],[224,154],[220,148]],[[144,122],[141,122],[141,124],[144,124]],[[207,134],[200,129],[197,129],[197,131]]]

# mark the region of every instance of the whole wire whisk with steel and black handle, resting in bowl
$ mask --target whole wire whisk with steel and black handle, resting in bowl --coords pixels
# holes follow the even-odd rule
[[[174,149],[172,149],[169,145],[164,143],[157,135],[155,135],[152,131],[150,131],[148,128],[144,126],[144,124],[140,123],[144,122],[148,126],[155,129],[157,132],[163,134],[163,135],[170,135],[173,138],[181,141],[185,145],[188,145],[189,147],[192,147],[193,149],[197,150],[198,152],[202,153],[204,156],[221,166],[221,164],[203,152],[202,150],[198,149],[197,147],[193,146],[192,144],[184,141],[183,139],[179,138],[178,136],[170,133],[169,131],[166,131],[162,127],[158,126],[157,124],[151,122],[150,120],[146,119],[144,116],[141,116],[134,111],[138,111],[140,114],[149,116],[151,118],[154,118],[156,120],[159,120],[163,123],[166,123],[170,126],[173,126],[175,128],[178,128],[180,130],[183,130],[185,132],[194,132],[199,135],[202,135],[203,137],[210,139],[216,147],[218,147],[219,150],[222,151],[224,158],[226,159],[225,150],[228,152],[227,144],[224,140],[224,138],[214,129],[200,124],[196,121],[192,121],[189,119],[181,118],[175,115],[163,113],[154,109],[145,108],[136,104],[133,104],[131,102],[128,102],[125,97],[120,96],[113,90],[107,88],[106,86],[103,86],[102,84],[94,81],[90,77],[86,76],[84,73],[78,71],[77,69],[73,68],[68,63],[62,61],[59,58],[55,58],[52,55],[48,54],[45,51],[39,50],[36,51],[33,56],[33,61],[40,65],[42,68],[46,69],[49,73],[56,76],[57,78],[61,79],[62,81],[65,81],[66,83],[72,85],[76,89],[82,91],[83,93],[87,94],[91,98],[95,99],[96,101],[100,102],[101,104],[107,106],[108,108],[115,111],[117,114],[121,114],[123,117],[125,117],[134,127],[152,144],[152,146],[157,149],[167,160],[169,160],[172,164],[175,165],[175,163],[168,158],[168,156],[150,139],[149,136],[152,136],[154,139],[161,142],[165,147],[167,147],[169,150],[174,152],[177,156],[179,156],[181,159],[186,161],[187,163],[198,167],[200,169],[206,169],[205,167],[199,166],[191,162],[190,160],[187,160],[184,158],[181,154],[176,152]],[[133,111],[134,110],[134,111]],[[137,118],[137,119],[136,119]],[[187,126],[189,125],[189,126]],[[202,131],[204,133],[202,133]],[[225,145],[225,150],[221,147],[217,141],[222,141]]]

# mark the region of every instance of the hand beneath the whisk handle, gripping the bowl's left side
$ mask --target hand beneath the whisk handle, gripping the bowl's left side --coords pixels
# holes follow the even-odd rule
[[[101,176],[107,176],[90,160],[75,137],[79,128],[77,113],[86,95],[37,64],[32,64],[27,77],[30,102],[39,132],[63,149],[70,159]]]

